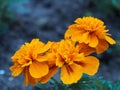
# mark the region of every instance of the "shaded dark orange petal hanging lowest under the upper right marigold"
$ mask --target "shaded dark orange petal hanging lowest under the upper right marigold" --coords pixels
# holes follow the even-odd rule
[[[101,54],[108,49],[109,45],[105,40],[99,40],[99,44],[96,47],[97,54]]]

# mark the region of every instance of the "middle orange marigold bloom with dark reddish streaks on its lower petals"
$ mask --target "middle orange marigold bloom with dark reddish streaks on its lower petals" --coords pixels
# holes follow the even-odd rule
[[[64,84],[76,83],[83,73],[94,75],[98,70],[99,60],[93,56],[85,57],[78,48],[71,40],[61,40],[53,44],[47,53],[49,61],[56,62],[56,70],[61,68],[60,76]]]

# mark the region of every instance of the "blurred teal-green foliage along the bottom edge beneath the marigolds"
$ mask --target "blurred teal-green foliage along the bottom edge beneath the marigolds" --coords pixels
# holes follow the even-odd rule
[[[85,74],[76,84],[64,85],[62,82],[56,83],[56,80],[53,78],[49,83],[52,87],[47,87],[40,83],[37,84],[37,87],[40,88],[40,90],[120,90],[120,81],[113,84],[101,77],[95,78]]]

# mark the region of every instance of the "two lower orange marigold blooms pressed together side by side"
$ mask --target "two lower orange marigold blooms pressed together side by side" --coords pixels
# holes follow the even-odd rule
[[[71,40],[44,44],[39,39],[33,39],[12,56],[14,65],[10,70],[13,76],[24,74],[25,86],[48,82],[59,68],[64,84],[76,83],[83,73],[94,75],[99,67],[96,57],[79,52],[79,47]]]

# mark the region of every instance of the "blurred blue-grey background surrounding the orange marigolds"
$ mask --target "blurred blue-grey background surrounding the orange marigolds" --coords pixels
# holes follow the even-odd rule
[[[83,16],[103,20],[117,41],[98,55],[101,65],[96,77],[120,80],[120,0],[0,0],[0,90],[37,90],[25,88],[23,76],[11,76],[11,56],[33,38],[63,39],[67,27]]]

